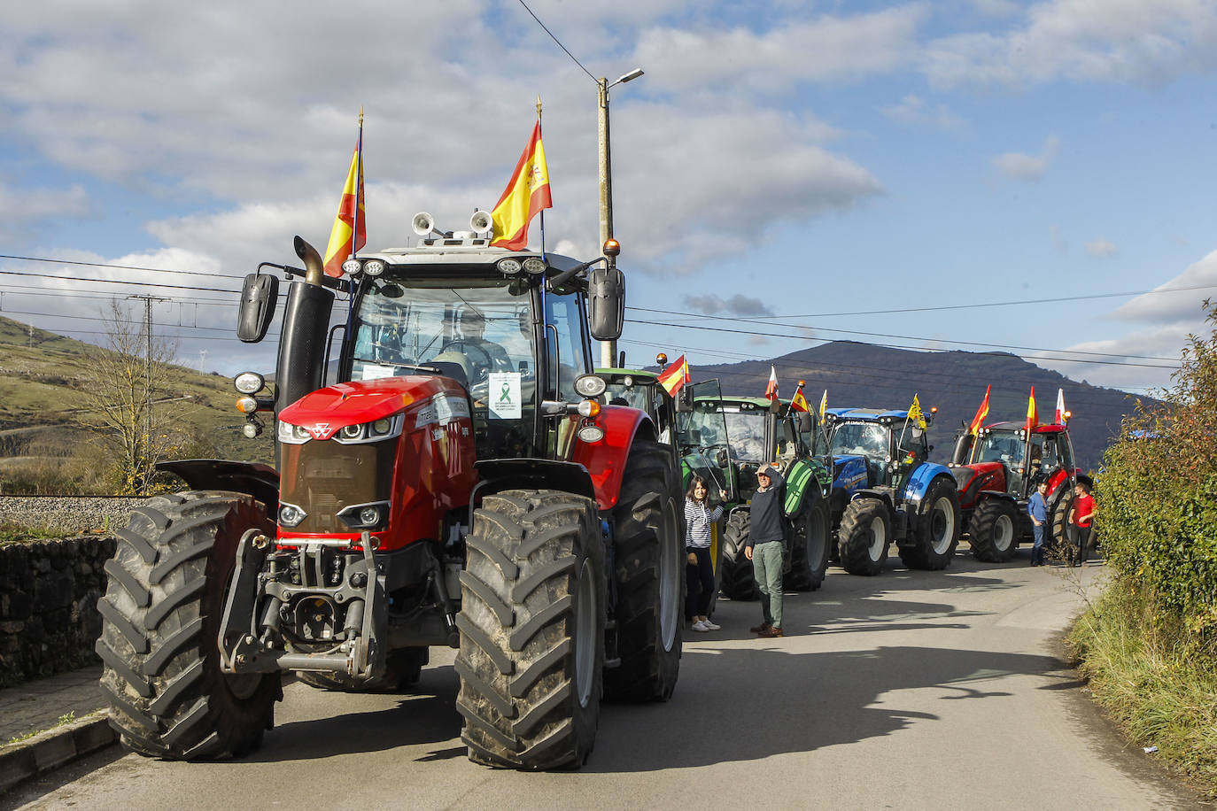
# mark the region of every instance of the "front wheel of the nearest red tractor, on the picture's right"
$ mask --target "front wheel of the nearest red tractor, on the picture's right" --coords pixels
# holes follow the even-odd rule
[[[607,580],[595,502],[554,490],[486,496],[466,545],[455,670],[469,759],[582,766],[604,669]]]

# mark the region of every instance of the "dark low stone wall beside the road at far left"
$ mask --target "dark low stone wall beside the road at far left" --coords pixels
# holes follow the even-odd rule
[[[114,546],[99,535],[0,546],[0,685],[97,661]]]

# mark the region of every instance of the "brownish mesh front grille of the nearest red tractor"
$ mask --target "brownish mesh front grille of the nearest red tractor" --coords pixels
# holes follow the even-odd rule
[[[293,533],[350,533],[337,513],[350,505],[389,501],[398,438],[344,445],[313,439],[280,445],[280,499],[308,517]]]

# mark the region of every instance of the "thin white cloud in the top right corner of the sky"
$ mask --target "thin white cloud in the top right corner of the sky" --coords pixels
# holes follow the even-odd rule
[[[1160,84],[1217,66],[1211,0],[1048,0],[1008,32],[931,41],[931,84],[1025,86],[1059,79]]]

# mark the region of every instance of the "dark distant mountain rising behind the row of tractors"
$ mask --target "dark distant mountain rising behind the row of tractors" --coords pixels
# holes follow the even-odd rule
[[[847,340],[803,349],[772,361],[699,366],[691,372],[695,382],[719,378],[724,393],[759,395],[769,379],[770,364],[778,370],[783,396],[793,394],[800,379],[807,381],[804,394],[813,407],[819,405],[825,388],[831,409],[907,409],[918,394],[926,411],[938,406],[930,441],[935,445],[933,457],[940,462],[949,457],[955,434],[976,413],[988,384],[993,385],[993,394],[987,422],[1025,419],[1032,385],[1041,421],[1049,421],[1056,404],[1056,389],[1064,389],[1065,406],[1073,413],[1070,435],[1078,463],[1084,468],[1097,468],[1101,463],[1103,451],[1118,432],[1125,415],[1135,405],[1126,392],[1071,381],[1006,353],[910,351]]]

